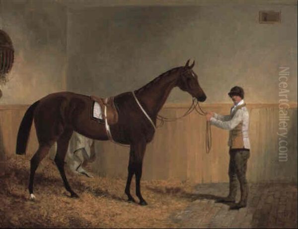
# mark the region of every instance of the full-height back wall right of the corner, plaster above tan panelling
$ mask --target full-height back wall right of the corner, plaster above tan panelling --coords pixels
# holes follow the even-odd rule
[[[206,110],[227,114],[229,89],[238,85],[245,90],[245,101],[252,108],[248,179],[297,182],[297,108],[291,110],[287,162],[278,161],[276,134],[279,67],[290,67],[288,99],[297,104],[296,3],[200,2],[182,6],[105,2],[101,7],[70,9],[68,90],[117,95],[195,59],[194,71],[207,95]],[[260,24],[259,10],[281,10],[282,23]],[[174,105],[162,114],[179,116],[185,109],[177,103],[185,106],[190,100],[187,93],[174,89],[167,100]],[[213,150],[207,155],[204,117],[191,114],[165,124],[147,148],[144,179],[227,181],[227,131],[215,127],[212,131]],[[96,142],[95,147],[94,170],[102,176],[126,178],[129,149],[111,142]]]

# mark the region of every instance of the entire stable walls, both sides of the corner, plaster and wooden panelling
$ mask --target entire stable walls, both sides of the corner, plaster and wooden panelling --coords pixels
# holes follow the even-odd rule
[[[252,109],[249,180],[297,182],[296,5],[95,7],[72,9],[67,16],[67,9],[55,1],[0,0],[0,4],[1,28],[17,45],[11,79],[1,86],[0,103],[8,104],[0,106],[0,147],[6,156],[14,155],[17,129],[27,105],[41,96],[65,89],[115,95],[137,89],[194,58],[194,70],[208,97],[207,111],[227,114],[230,104],[222,104],[230,102],[227,91],[235,84],[245,89],[245,101]],[[282,23],[258,24],[261,9],[281,9]],[[28,27],[33,29],[27,34]],[[280,66],[290,67],[288,96],[294,103],[287,162],[278,161],[277,149]],[[174,90],[167,101],[174,104],[166,105],[161,114],[179,116],[187,101],[189,95]],[[227,181],[227,131],[213,127],[212,133],[213,148],[206,154],[204,117],[191,114],[166,123],[148,146],[143,177]],[[126,178],[128,149],[111,142],[97,141],[95,146],[94,171]],[[32,128],[28,158],[36,147]]]

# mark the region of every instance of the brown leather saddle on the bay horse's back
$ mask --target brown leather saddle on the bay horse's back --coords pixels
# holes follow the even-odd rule
[[[114,97],[109,98],[99,98],[97,96],[90,96],[90,99],[97,102],[102,111],[103,119],[107,119],[108,124],[116,124],[118,122],[118,111],[114,104]],[[106,116],[105,116],[106,107]]]

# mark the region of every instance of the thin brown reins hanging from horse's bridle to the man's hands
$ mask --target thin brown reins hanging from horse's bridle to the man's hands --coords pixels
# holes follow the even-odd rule
[[[199,110],[197,109],[197,107],[199,108]],[[190,108],[180,117],[168,118],[168,117],[164,117],[162,115],[157,114],[157,119],[161,122],[160,125],[157,126],[157,128],[161,127],[164,124],[164,122],[176,121],[178,119],[181,119],[181,118],[187,116],[188,114],[192,113],[194,110],[200,115],[205,116],[207,114],[207,112],[205,112],[200,107],[199,102],[193,97],[192,104],[191,104]],[[210,152],[211,146],[212,146],[211,125],[210,125],[209,121],[206,121],[206,153]]]

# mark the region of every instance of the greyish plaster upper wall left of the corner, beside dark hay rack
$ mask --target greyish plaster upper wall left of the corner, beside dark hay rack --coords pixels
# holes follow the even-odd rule
[[[50,0],[0,0],[0,29],[15,58],[0,104],[31,104],[66,89],[67,7]]]

